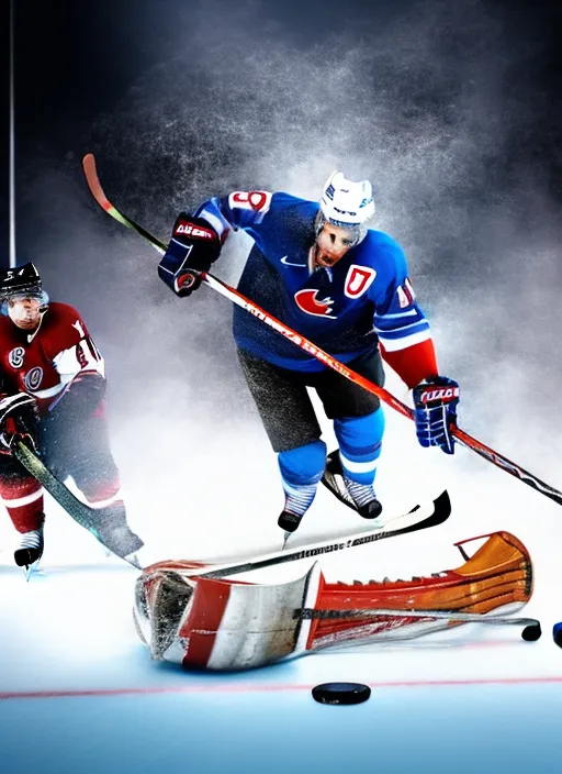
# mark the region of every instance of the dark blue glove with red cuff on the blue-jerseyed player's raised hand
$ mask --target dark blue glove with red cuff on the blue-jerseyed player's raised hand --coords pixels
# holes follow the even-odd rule
[[[170,244],[158,264],[158,276],[177,296],[190,296],[202,283],[202,273],[221,253],[216,231],[202,218],[180,212]]]

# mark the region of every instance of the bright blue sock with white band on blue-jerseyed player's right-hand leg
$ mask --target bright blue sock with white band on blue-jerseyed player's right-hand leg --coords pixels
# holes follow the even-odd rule
[[[346,417],[334,421],[339,457],[346,475],[358,484],[372,484],[384,434],[381,408],[366,417]]]

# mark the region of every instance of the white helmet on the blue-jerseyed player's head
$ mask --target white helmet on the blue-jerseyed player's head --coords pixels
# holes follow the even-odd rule
[[[334,225],[361,225],[374,214],[373,188],[369,180],[348,180],[344,173],[334,172],[322,190],[321,210]]]

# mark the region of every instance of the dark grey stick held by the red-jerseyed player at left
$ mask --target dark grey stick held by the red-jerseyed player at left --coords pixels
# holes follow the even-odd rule
[[[66,487],[63,482],[50,473],[48,467],[46,467],[43,462],[34,454],[29,446],[26,446],[22,441],[16,441],[14,447],[14,455],[21,462],[21,464],[29,471],[32,476],[34,476],[46,491],[58,502],[58,505],[66,510],[66,512],[78,523],[83,527],[93,537],[104,545],[111,553],[115,554],[120,559],[128,562],[137,570],[140,570],[138,562],[132,559],[127,559],[115,550],[115,546],[111,548],[103,540],[101,540],[98,530],[95,528],[97,523],[103,520],[104,510],[103,508],[90,508],[89,506],[80,502],[80,500],[72,495],[70,489]]]

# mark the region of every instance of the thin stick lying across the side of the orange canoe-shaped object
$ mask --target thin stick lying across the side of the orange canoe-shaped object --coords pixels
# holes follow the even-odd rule
[[[349,618],[446,618],[451,623],[493,623],[496,626],[525,627],[524,640],[538,640],[541,635],[540,621],[537,618],[509,618],[509,616],[490,616],[477,612],[458,612],[457,610],[389,610],[387,608],[368,608],[366,610],[316,610],[315,608],[297,609],[293,618],[302,620],[334,620]]]

